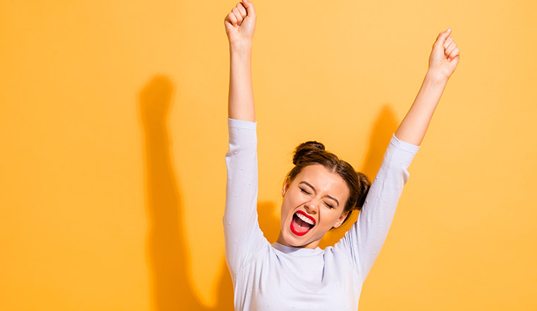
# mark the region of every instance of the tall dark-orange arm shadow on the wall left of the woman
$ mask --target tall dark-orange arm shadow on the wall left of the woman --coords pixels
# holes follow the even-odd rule
[[[179,180],[172,165],[167,117],[172,82],[155,76],[139,94],[143,127],[143,164],[148,218],[148,271],[152,310],[233,310],[233,287],[222,259],[216,307],[204,306],[189,278],[189,252],[182,223],[184,206]]]

